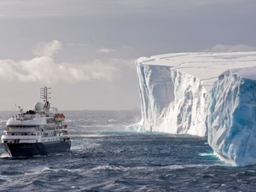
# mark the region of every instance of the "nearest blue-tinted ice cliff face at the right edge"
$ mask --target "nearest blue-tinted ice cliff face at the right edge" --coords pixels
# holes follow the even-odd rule
[[[226,71],[211,90],[208,143],[236,166],[256,164],[256,67]]]

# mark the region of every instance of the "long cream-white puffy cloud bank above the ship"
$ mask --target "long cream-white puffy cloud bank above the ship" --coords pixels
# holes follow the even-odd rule
[[[115,67],[111,60],[95,60],[85,64],[56,63],[53,55],[60,49],[61,43],[55,40],[38,44],[33,49],[33,53],[38,56],[31,60],[0,60],[0,80],[74,84],[90,80],[111,81],[119,73],[118,67]]]

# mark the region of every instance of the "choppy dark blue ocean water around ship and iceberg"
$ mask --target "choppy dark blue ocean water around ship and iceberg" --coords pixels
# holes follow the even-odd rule
[[[13,112],[0,112],[0,126]],[[139,111],[67,111],[72,151],[9,158],[0,191],[256,191],[256,166],[225,165],[207,138],[132,132]]]

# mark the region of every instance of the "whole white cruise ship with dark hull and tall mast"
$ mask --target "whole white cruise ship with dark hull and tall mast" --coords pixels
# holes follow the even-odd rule
[[[29,157],[70,151],[71,139],[65,115],[51,108],[50,88],[40,90],[43,102],[35,103],[34,109],[11,117],[3,129],[1,145],[12,157]]]

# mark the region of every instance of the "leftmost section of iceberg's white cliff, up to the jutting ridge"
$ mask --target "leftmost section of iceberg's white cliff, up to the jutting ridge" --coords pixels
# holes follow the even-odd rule
[[[137,65],[137,73],[143,114],[141,128],[146,131],[168,131],[162,123],[166,109],[174,99],[170,67]]]

